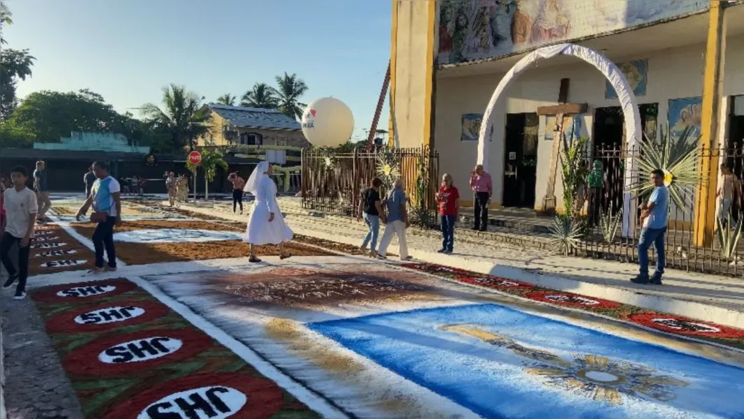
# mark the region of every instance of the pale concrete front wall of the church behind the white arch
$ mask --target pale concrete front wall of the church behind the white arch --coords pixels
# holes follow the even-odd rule
[[[647,94],[638,97],[638,103],[658,103],[658,122],[667,120],[668,101],[679,97],[702,95],[702,79],[705,45],[689,45],[639,56],[620,57],[615,61],[648,59]],[[744,36],[728,38],[725,58],[723,94],[744,95]],[[435,108],[436,127],[434,135],[440,152],[440,172],[451,173],[460,188],[466,188],[466,179],[475,164],[477,141],[461,141],[461,118],[466,113],[483,113],[493,90],[504,74],[475,77],[437,79]],[[536,112],[538,106],[557,103],[560,80],[571,79],[569,103],[588,103],[589,111],[583,115],[584,134],[591,136],[594,109],[618,106],[617,99],[605,98],[606,81],[602,74],[587,63],[532,68],[525,71],[507,90],[507,100],[496,109],[496,127],[504,127],[505,114]],[[725,112],[722,112],[725,118]],[[725,122],[725,119],[724,119]],[[723,127],[727,124],[722,124]],[[540,117],[538,145],[538,176],[536,182],[536,207],[542,205],[542,197],[548,181],[552,141],[545,138],[545,117]],[[504,172],[504,131],[496,129],[488,156],[494,182],[493,202],[501,203]],[[556,141],[556,140],[554,140]],[[560,202],[562,188],[560,178],[556,180],[555,196]]]

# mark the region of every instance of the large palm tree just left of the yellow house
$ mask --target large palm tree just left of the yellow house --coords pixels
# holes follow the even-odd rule
[[[194,140],[209,132],[211,112],[202,106],[204,97],[187,92],[185,86],[171,84],[163,88],[163,108],[145,103],[141,112],[146,121],[172,135],[176,148],[193,150]]]

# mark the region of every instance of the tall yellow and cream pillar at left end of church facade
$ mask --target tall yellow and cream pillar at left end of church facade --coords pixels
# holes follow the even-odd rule
[[[391,92],[400,147],[429,144],[434,69],[434,0],[395,0]]]

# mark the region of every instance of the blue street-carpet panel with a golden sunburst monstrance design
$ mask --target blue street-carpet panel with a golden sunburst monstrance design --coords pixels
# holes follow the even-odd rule
[[[744,418],[744,369],[496,304],[308,326],[484,418]]]

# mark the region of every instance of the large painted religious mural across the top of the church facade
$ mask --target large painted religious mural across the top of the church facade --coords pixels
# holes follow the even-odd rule
[[[441,64],[463,63],[703,11],[697,0],[443,0]]]

